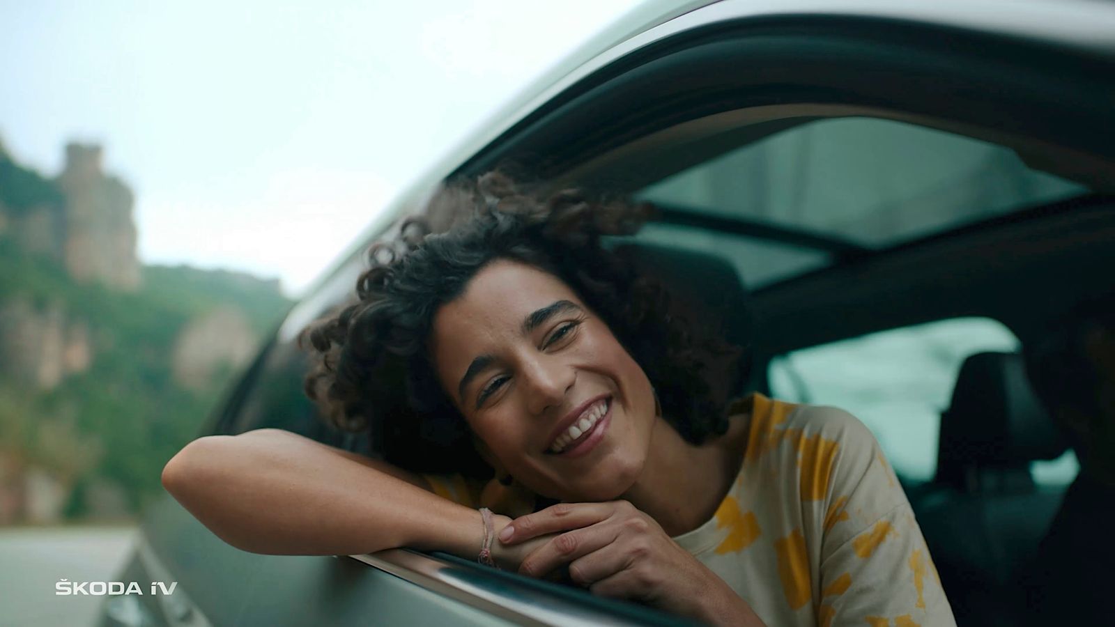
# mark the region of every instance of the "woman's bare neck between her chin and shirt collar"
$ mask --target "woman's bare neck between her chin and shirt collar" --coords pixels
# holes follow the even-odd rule
[[[659,417],[642,474],[623,498],[669,536],[700,527],[716,512],[738,471],[737,456],[724,444],[725,436],[690,444]]]

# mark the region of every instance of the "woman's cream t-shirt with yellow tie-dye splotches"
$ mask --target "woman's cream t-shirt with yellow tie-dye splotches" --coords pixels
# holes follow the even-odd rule
[[[847,412],[752,395],[744,464],[716,514],[673,538],[769,627],[954,626],[874,436]],[[428,476],[474,502],[459,480]]]

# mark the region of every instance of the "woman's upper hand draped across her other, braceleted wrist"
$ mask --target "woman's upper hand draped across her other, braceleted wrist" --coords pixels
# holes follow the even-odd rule
[[[535,544],[518,568],[530,577],[568,563],[570,579],[594,595],[712,624],[762,625],[727,583],[627,501],[559,503],[513,520],[497,538],[505,547]]]

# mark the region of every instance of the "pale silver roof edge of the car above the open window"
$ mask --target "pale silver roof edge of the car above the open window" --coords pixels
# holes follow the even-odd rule
[[[1115,3],[1087,0],[649,0],[602,29],[525,86],[476,129],[428,167],[378,214],[347,252],[307,292],[336,299],[338,284],[355,282],[353,267],[367,243],[399,216],[420,209],[429,194],[468,160],[483,153],[540,107],[575,93],[579,83],[632,52],[672,36],[723,22],[793,18],[885,19],[963,29],[1037,41],[1103,59],[1115,59]],[[314,298],[314,295],[320,298]],[[301,308],[298,308],[301,309]],[[314,309],[314,307],[308,307]],[[294,316],[291,326],[304,324]],[[287,327],[287,325],[284,325]],[[287,334],[283,334],[287,335]]]

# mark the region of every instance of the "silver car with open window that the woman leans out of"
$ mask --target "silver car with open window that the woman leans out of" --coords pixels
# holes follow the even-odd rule
[[[964,405],[961,388],[990,384],[961,365],[998,355],[979,359],[1018,378],[1019,338],[1112,287],[1113,105],[1113,3],[647,2],[386,208],[198,435],[278,427],[376,454],[302,396],[295,337],[350,298],[363,251],[397,219],[452,219],[427,208],[439,183],[515,163],[655,203],[633,243],[657,251],[695,307],[746,299],[754,312],[726,324],[753,338],[749,374],[730,385],[860,416],[906,489],[958,623],[1014,625],[1025,607],[1012,578],[1075,466],[1041,419],[1017,427]],[[706,271],[710,258],[721,270]],[[1027,394],[980,397],[1036,411]],[[1010,463],[967,455],[978,437]],[[112,598],[106,626],[685,623],[445,554],[246,553],[169,496],[146,512],[118,579],[178,586]]]

